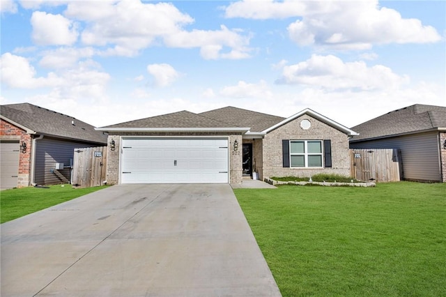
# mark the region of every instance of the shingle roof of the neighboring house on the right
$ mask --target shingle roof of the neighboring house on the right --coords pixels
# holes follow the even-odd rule
[[[411,105],[394,110],[351,128],[360,135],[351,142],[364,139],[389,137],[434,128],[446,128],[446,107]]]

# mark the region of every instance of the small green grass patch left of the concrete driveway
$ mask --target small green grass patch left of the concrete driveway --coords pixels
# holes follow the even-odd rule
[[[0,192],[0,222],[8,222],[29,213],[81,197],[107,187],[73,189],[71,185],[50,185],[49,188],[20,188]]]

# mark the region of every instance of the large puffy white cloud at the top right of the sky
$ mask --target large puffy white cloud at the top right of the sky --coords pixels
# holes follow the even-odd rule
[[[319,45],[338,50],[367,50],[374,44],[433,43],[440,35],[420,20],[403,19],[396,10],[379,8],[378,1],[318,2],[317,10],[289,25],[298,45]]]

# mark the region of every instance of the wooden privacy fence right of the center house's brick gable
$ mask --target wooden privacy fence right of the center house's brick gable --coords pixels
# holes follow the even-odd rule
[[[394,148],[351,149],[351,176],[359,181],[401,181],[401,152]]]

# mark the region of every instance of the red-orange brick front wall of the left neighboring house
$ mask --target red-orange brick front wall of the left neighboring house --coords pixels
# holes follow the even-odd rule
[[[26,151],[19,153],[19,172],[17,188],[27,187],[30,185],[31,173],[31,151],[32,139],[31,135],[27,134],[22,128],[0,119],[0,138],[6,140],[19,140],[26,143]]]

